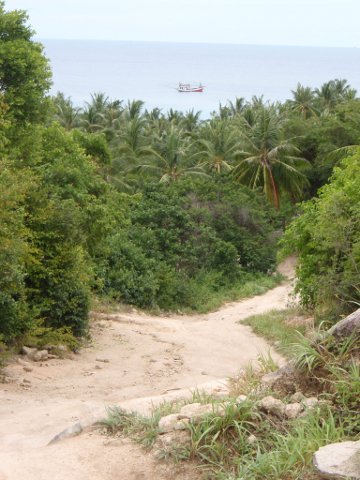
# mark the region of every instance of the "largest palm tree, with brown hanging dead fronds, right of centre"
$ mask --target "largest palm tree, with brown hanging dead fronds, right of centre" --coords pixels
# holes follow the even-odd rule
[[[232,170],[250,188],[262,187],[277,209],[281,190],[299,197],[308,183],[300,171],[308,162],[299,157],[293,139],[282,139],[282,123],[273,106],[258,109],[255,124],[241,133],[242,149],[236,153],[239,160]]]

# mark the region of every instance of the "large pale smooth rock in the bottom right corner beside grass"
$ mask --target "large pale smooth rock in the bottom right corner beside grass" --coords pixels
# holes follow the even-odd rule
[[[360,440],[319,448],[314,454],[314,465],[322,478],[360,479]]]

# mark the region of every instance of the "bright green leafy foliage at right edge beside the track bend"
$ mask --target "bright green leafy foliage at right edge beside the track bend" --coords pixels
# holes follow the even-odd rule
[[[304,306],[337,318],[360,304],[360,154],[344,159],[302,210],[284,238],[299,256],[296,289]]]

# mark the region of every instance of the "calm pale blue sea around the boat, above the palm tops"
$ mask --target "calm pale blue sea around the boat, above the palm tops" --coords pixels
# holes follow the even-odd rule
[[[298,82],[318,87],[346,78],[360,91],[360,49],[220,44],[43,40],[53,89],[82,105],[90,93],[145,101],[147,109],[200,110],[264,95],[285,100]],[[177,84],[202,82],[203,93],[178,93]]]

